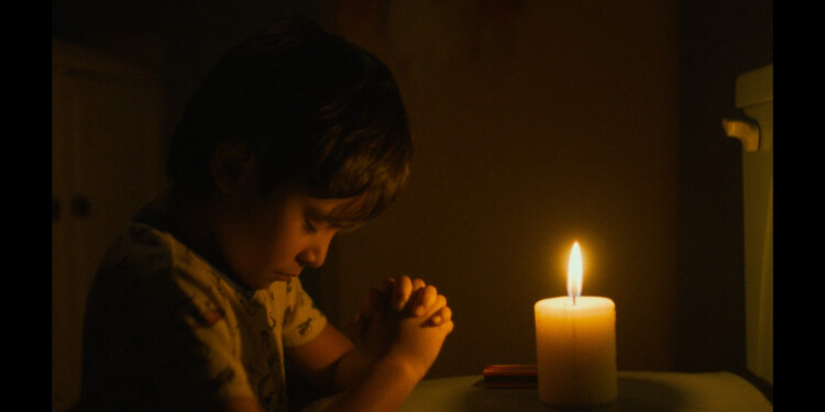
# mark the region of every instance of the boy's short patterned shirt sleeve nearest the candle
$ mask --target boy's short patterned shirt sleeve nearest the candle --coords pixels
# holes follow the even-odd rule
[[[327,325],[327,316],[304,291],[300,280],[287,283],[287,307],[284,311],[284,346],[299,346],[312,341]]]

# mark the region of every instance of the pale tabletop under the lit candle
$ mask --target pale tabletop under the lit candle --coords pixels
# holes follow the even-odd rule
[[[536,388],[485,388],[482,375],[422,380],[399,412],[562,411]],[[726,372],[619,371],[618,399],[588,412],[772,412],[747,380]]]

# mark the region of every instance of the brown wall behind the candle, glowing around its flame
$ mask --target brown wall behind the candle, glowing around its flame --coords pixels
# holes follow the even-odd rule
[[[416,156],[402,199],[337,248],[344,319],[406,272],[455,315],[431,376],[535,363],[534,304],[616,302],[618,367],[672,369],[678,1],[451,0],[348,10],[396,74]]]

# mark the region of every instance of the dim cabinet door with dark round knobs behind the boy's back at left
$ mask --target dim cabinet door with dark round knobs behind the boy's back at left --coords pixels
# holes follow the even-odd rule
[[[160,187],[161,88],[148,71],[53,43],[52,409],[77,400],[86,296],[106,248]]]

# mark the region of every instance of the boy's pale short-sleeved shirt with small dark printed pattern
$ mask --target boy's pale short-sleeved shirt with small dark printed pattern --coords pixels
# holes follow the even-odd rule
[[[327,319],[297,279],[246,290],[164,231],[133,221],[89,291],[81,411],[189,411],[233,397],[286,411],[284,347]]]

